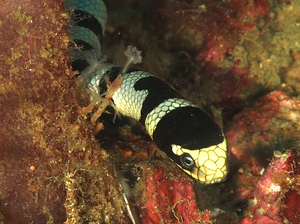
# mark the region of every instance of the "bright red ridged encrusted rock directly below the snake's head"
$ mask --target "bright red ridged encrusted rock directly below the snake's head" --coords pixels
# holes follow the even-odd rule
[[[189,178],[166,175],[164,167],[155,165],[143,179],[146,186],[142,192],[144,202],[140,203],[140,212],[144,224],[188,224],[200,220],[193,182]],[[203,219],[207,220],[204,223],[210,223],[209,214]]]

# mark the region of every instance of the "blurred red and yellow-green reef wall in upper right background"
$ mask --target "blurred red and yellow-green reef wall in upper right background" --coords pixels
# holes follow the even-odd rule
[[[164,39],[179,46],[193,63],[190,74],[173,75],[174,86],[190,79],[183,89],[178,85],[184,94],[222,107],[229,120],[262,90],[299,93],[294,72],[299,52],[298,1],[169,3],[161,9],[166,21]],[[294,68],[289,72],[291,63]]]

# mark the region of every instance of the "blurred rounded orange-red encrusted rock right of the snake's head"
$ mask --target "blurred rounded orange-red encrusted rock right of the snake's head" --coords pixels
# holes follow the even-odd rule
[[[273,91],[235,115],[227,126],[226,138],[232,154],[258,175],[262,165],[256,153],[288,141],[298,142],[299,122],[300,102],[282,91]]]

